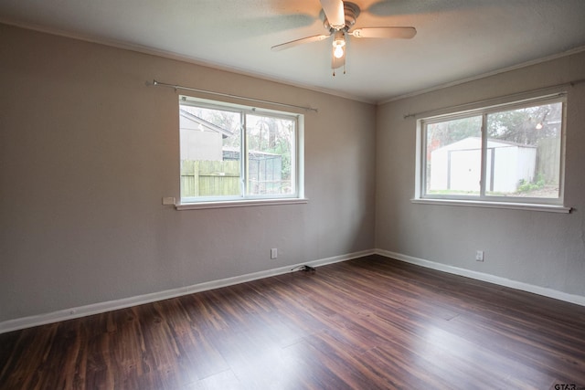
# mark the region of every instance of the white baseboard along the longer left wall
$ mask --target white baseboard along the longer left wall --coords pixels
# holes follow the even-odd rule
[[[172,290],[164,290],[152,292],[149,294],[138,295],[130,298],[123,298],[122,300],[109,300],[105,302],[93,303],[90,305],[80,306],[76,308],[69,308],[61,311],[53,311],[44,314],[33,315],[29,317],[17,318],[15,320],[8,320],[0,322],[0,334],[5,332],[17,331],[20,329],[31,328],[37,325],[44,325],[47,323],[72,320],[75,318],[85,317],[92,314],[99,314],[106,311],[114,311],[124,309],[144,303],[150,303],[157,300],[167,300],[170,298],[180,297],[199,291],[214,290],[221,287],[227,287],[246,281],[268,278],[271,276],[282,275],[290,272],[294,267],[306,264],[311,267],[320,267],[326,264],[333,264],[340,261],[350,260],[352,258],[361,258],[364,256],[373,255],[374,249],[362,250],[360,252],[349,253],[346,255],[335,256],[333,258],[321,258],[313,261],[303,262],[301,264],[281,267],[278,269],[267,269],[260,272],[254,272],[246,275],[241,275],[233,278],[212,280],[205,283],[198,283],[191,286],[180,287]]]

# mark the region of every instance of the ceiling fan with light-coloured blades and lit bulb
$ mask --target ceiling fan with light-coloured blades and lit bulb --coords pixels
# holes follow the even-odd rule
[[[331,68],[335,69],[346,65],[346,43],[347,37],[356,38],[403,38],[410,39],[417,34],[414,27],[364,27],[349,29],[356,24],[359,16],[359,6],[343,0],[320,0],[323,10],[323,26],[327,34],[303,37],[290,42],[271,47],[272,51],[279,51],[285,48],[295,47],[305,43],[317,42],[333,36]],[[345,73],[345,70],[344,70]]]

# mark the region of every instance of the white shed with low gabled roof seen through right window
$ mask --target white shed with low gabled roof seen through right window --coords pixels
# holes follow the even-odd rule
[[[481,142],[479,137],[468,137],[433,151],[431,191],[478,191]],[[486,157],[486,191],[514,193],[521,181],[534,179],[536,146],[488,140]]]

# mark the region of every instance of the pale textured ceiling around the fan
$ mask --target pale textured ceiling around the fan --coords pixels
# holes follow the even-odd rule
[[[319,0],[2,0],[0,22],[371,102],[585,47],[585,0],[354,3],[362,9],[355,28],[415,26],[418,34],[351,39],[346,74],[338,69],[335,77],[330,40],[271,51],[325,33]]]

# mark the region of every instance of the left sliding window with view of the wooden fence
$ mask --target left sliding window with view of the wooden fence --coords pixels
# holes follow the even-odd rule
[[[181,204],[302,197],[302,121],[180,96]]]

